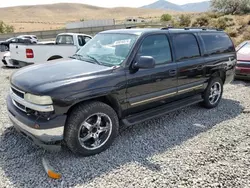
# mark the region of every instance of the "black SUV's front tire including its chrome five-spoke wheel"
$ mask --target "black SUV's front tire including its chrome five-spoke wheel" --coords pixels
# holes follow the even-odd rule
[[[109,131],[103,131],[108,128]],[[66,122],[64,139],[74,153],[90,156],[108,149],[118,135],[118,130],[119,120],[113,108],[102,102],[89,102],[72,110]],[[83,141],[86,138],[88,139]]]

